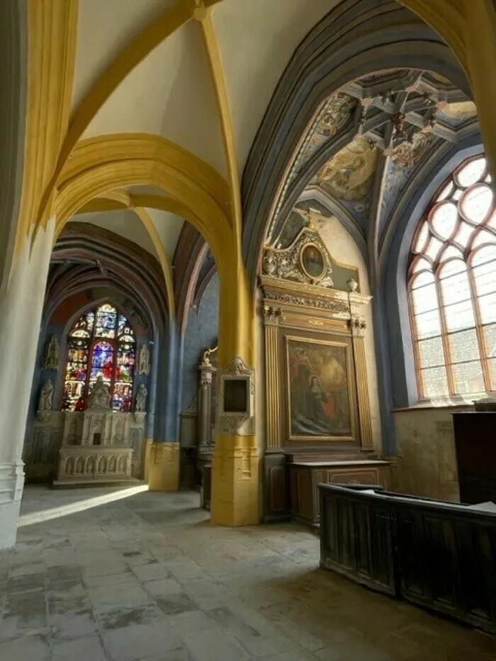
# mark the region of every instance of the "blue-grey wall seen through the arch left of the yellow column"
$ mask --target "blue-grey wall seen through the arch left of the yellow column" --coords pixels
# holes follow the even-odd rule
[[[196,395],[201,352],[217,341],[218,327],[219,276],[215,274],[205,289],[198,310],[189,310],[184,335],[181,410],[186,409]]]

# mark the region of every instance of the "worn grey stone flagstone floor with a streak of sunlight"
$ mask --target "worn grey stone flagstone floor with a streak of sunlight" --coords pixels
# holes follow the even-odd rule
[[[320,570],[305,529],[214,528],[198,504],[28,487],[0,660],[496,660],[496,640]]]

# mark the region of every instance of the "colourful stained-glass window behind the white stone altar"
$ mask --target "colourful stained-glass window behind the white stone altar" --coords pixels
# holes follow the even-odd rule
[[[108,386],[114,411],[130,411],[135,375],[135,335],[128,319],[110,303],[79,317],[67,337],[62,410],[86,408],[98,378]]]

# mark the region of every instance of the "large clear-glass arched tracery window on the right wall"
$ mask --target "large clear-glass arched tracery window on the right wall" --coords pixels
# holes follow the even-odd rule
[[[496,204],[484,157],[459,166],[419,223],[408,270],[420,398],[496,390]]]

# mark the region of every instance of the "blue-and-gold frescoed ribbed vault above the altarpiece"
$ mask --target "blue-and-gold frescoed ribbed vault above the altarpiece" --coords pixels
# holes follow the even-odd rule
[[[333,213],[349,214],[364,237],[372,222],[381,235],[412,175],[476,131],[475,104],[438,74],[389,69],[345,85],[321,103],[300,141],[268,243],[294,234],[312,192],[327,198]]]

